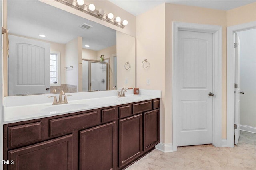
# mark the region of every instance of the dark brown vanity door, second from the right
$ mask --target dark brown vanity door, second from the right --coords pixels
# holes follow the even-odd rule
[[[119,167],[142,153],[142,114],[119,120]]]

